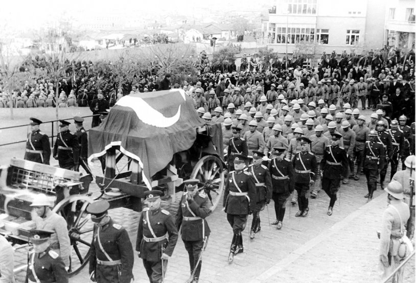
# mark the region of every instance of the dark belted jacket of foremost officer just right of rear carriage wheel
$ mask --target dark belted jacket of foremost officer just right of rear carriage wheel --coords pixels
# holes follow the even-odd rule
[[[238,190],[238,188],[240,190]],[[244,196],[235,196],[234,193],[247,193]],[[256,208],[256,181],[245,171],[232,171],[228,174],[225,184],[223,206],[225,212],[232,215],[247,215]]]

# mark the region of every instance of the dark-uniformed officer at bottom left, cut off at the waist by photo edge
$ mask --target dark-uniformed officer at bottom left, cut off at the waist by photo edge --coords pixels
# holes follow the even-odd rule
[[[29,230],[29,241],[33,250],[29,254],[29,266],[26,273],[29,283],[67,283],[68,277],[62,258],[49,246],[52,232]]]

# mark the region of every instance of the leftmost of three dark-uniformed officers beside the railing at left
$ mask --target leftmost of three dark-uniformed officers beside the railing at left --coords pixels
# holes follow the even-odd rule
[[[32,120],[32,123],[29,124],[31,132],[26,141],[25,159],[49,165],[51,145],[48,136],[39,130],[42,121],[33,117],[30,120]]]

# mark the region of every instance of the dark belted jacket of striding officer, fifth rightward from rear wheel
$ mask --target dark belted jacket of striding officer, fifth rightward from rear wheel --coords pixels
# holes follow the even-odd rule
[[[348,157],[346,157],[345,150],[338,146],[326,147],[320,169],[323,170],[323,178],[340,179],[341,176],[348,177]]]

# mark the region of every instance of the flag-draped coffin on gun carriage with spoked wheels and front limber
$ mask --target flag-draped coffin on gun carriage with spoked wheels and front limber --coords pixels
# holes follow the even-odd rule
[[[39,193],[50,196],[53,211],[67,223],[70,276],[89,259],[94,225],[86,208],[94,200],[140,212],[145,191],[157,188],[165,192],[163,199],[174,202],[182,181],[196,178],[212,210],[220,202],[225,186],[221,125],[200,120],[182,90],[123,97],[88,139],[88,161],[103,164],[103,176],[93,176],[98,186],[90,185],[90,175],[15,158],[0,172],[0,219],[5,224],[0,233],[26,246],[28,230],[35,226],[30,204]]]

